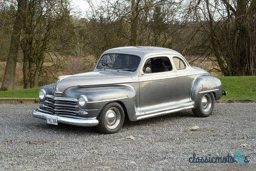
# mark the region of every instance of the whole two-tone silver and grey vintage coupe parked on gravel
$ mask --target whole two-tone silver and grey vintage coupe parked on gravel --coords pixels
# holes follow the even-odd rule
[[[114,133],[125,118],[138,121],[185,109],[207,117],[222,95],[218,78],[190,66],[175,50],[118,47],[101,55],[94,72],[61,76],[42,87],[33,116]]]

